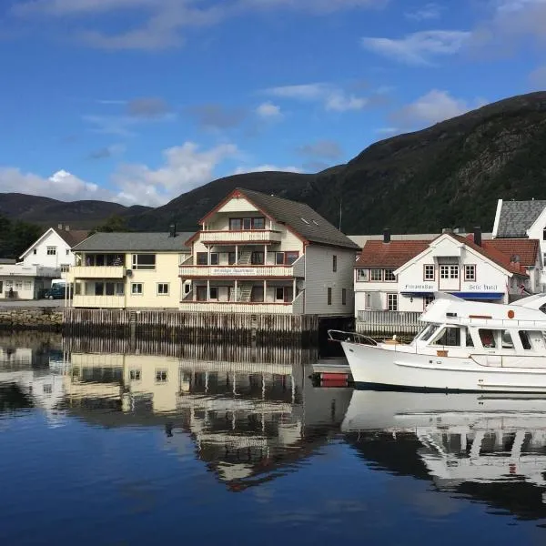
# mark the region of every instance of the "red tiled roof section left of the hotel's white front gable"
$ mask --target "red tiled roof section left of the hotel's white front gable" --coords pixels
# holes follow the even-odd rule
[[[429,245],[430,240],[391,240],[389,243],[382,240],[366,241],[357,259],[357,267],[399,268],[429,248]]]

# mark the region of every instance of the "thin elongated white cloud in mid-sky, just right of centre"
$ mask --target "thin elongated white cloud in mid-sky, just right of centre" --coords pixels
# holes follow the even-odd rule
[[[322,103],[325,110],[335,112],[361,110],[369,103],[364,96],[348,94],[342,87],[320,82],[297,86],[269,87],[265,92],[278,98],[317,101]]]

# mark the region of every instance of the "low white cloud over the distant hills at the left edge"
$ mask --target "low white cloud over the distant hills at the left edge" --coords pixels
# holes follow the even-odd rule
[[[59,170],[51,177],[45,178],[22,172],[15,167],[0,167],[0,187],[3,192],[47,196],[64,201],[77,199],[113,200],[113,196],[104,188],[85,182],[66,170]]]

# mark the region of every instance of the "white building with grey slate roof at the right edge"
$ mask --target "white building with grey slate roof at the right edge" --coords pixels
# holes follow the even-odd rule
[[[494,238],[532,238],[540,241],[542,264],[541,291],[546,289],[546,201],[503,201],[497,203]]]

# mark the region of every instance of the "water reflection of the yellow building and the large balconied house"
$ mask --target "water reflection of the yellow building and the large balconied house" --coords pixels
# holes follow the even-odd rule
[[[167,449],[181,454],[189,434],[197,458],[230,490],[294,470],[339,434],[351,390],[313,388],[314,351],[192,345],[181,352],[73,352],[67,410],[106,427],[161,426]]]

